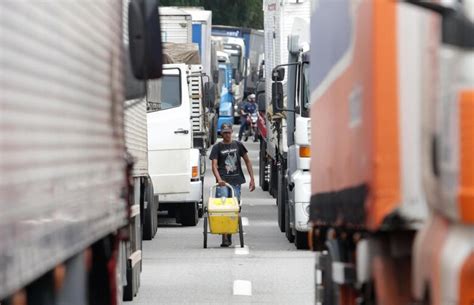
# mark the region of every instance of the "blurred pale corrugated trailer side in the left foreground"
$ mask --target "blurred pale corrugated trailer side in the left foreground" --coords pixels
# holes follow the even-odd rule
[[[127,223],[121,10],[0,4],[0,299]]]

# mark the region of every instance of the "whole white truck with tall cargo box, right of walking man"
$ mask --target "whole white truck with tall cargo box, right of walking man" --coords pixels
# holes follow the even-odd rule
[[[262,179],[261,186],[277,198],[279,228],[290,242],[296,237],[297,248],[307,247],[310,197],[311,129],[307,102],[303,100],[307,98],[309,14],[309,1],[264,2],[266,107],[258,125],[260,173],[268,180]],[[285,71],[288,77],[284,77]]]

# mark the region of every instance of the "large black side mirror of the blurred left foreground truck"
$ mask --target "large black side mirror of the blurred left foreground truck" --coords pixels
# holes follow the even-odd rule
[[[137,79],[162,76],[161,26],[158,0],[132,0],[128,5],[130,62]]]

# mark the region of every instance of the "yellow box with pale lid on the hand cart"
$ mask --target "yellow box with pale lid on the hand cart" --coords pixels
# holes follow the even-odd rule
[[[240,207],[237,198],[209,198],[207,213],[212,234],[239,232]]]

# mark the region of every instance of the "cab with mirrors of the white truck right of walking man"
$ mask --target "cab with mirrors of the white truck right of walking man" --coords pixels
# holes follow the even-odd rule
[[[311,197],[309,50],[306,42],[300,42],[300,36],[292,34],[288,38],[288,64],[276,66],[272,73],[272,123],[277,132],[278,147],[288,146],[286,154],[278,154],[277,159],[278,221],[289,242],[294,242],[297,249],[307,249]],[[285,71],[288,73],[286,105],[282,84]],[[285,136],[286,144],[283,142]],[[261,156],[263,170],[266,161],[262,152]]]

